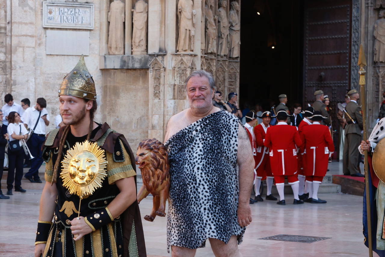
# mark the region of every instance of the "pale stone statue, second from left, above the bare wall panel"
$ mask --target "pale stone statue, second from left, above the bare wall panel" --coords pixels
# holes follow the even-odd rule
[[[147,3],[137,0],[132,9],[132,54],[147,54],[147,13]]]

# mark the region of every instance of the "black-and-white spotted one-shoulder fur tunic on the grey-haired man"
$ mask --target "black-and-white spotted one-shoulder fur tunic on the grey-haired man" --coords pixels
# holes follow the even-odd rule
[[[206,239],[242,242],[238,224],[239,119],[221,110],[179,130],[166,142],[170,161],[167,251],[205,247]]]

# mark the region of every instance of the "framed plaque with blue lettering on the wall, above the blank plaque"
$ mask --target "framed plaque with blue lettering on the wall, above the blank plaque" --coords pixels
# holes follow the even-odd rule
[[[94,29],[94,4],[43,2],[43,27]]]

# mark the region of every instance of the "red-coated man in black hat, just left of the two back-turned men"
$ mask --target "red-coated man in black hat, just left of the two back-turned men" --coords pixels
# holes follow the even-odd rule
[[[266,200],[276,201],[277,198],[271,194],[271,187],[273,186],[274,176],[271,172],[270,161],[269,161],[269,148],[264,146],[263,142],[266,137],[266,131],[270,127],[271,112],[267,111],[262,113],[262,116],[258,116],[262,119],[262,123],[254,127],[254,135],[256,140],[256,155],[254,156],[256,166],[256,177],[254,179],[255,186],[255,200],[263,201],[259,195],[259,187],[261,186],[261,180],[266,177],[267,193]]]

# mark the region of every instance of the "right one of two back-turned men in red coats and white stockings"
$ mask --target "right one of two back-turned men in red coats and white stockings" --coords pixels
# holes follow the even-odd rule
[[[320,121],[326,118],[321,115],[321,112],[315,111],[313,116],[309,118],[313,123],[304,127],[301,132],[301,141],[303,142],[301,152],[306,150],[304,158],[306,183],[308,183],[309,194],[312,196],[305,200],[309,203],[326,203],[325,200],[321,200],[317,196],[318,188],[328,169],[329,155],[334,152],[329,128],[320,124]]]

